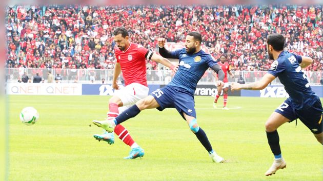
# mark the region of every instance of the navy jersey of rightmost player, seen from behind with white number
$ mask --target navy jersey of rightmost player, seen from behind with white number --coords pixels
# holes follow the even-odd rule
[[[309,108],[318,98],[301,70],[299,65],[301,61],[301,56],[282,51],[268,71],[275,77],[278,76],[280,83],[285,86],[286,92],[292,99],[295,109]]]

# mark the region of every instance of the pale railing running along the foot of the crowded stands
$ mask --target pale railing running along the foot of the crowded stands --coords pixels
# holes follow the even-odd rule
[[[26,68],[6,68],[7,82],[17,82],[24,72],[27,73],[29,78],[33,79],[36,73],[42,76],[47,82],[48,72],[55,78],[57,74],[62,77],[63,83],[90,83],[92,80],[94,83],[99,84],[102,79],[105,79],[106,84],[111,84],[113,77],[113,69],[26,69]],[[212,70],[207,70],[202,76],[199,85],[213,85],[215,77]],[[267,71],[231,71],[234,77],[231,78],[228,75],[228,82],[238,82],[243,79],[246,83],[259,81]],[[309,82],[313,85],[320,84],[320,79],[323,77],[323,72],[305,72]],[[170,70],[147,70],[148,84],[168,84],[174,73]],[[121,76],[120,76],[121,77]],[[119,83],[122,83],[123,79],[119,78]],[[272,84],[280,84],[279,79],[276,78]]]

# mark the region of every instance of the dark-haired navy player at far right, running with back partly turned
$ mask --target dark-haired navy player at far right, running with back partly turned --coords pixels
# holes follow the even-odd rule
[[[322,104],[312,91],[302,68],[313,63],[312,58],[299,56],[284,51],[285,37],[281,34],[271,34],[267,37],[267,51],[269,58],[274,60],[269,71],[255,83],[233,83],[231,90],[249,89],[261,90],[268,86],[276,77],[285,86],[289,98],[285,100],[268,118],[266,133],[271,151],[274,154],[274,163],[265,173],[272,175],[278,169],[286,167],[286,162],[281,156],[277,128],[284,123],[300,119],[314,134],[320,144],[322,143]]]

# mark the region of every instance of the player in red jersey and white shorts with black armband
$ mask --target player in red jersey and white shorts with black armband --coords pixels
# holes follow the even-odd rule
[[[119,113],[133,106],[138,100],[148,96],[146,59],[161,63],[174,72],[177,70],[177,66],[174,66],[168,59],[149,51],[141,45],[130,42],[129,33],[126,28],[116,28],[113,35],[114,42],[117,45],[117,48],[114,50],[117,62],[112,80],[115,94],[109,100],[108,119],[114,119]],[[125,87],[123,89],[119,89],[117,84],[117,78],[121,71],[125,79]],[[144,156],[144,150],[134,142],[125,127],[118,125],[114,129],[114,133],[126,145],[131,147],[130,154],[125,159]],[[113,133],[105,132],[104,134],[95,134],[93,136],[99,141],[104,140],[109,144],[114,143]]]

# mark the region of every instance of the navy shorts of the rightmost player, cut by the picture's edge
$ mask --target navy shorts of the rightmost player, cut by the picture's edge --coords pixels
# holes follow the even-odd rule
[[[319,134],[322,132],[322,104],[320,99],[314,100],[313,106],[307,109],[295,109],[290,98],[286,99],[275,112],[287,117],[290,122],[299,119],[305,126],[307,126],[312,133]]]

